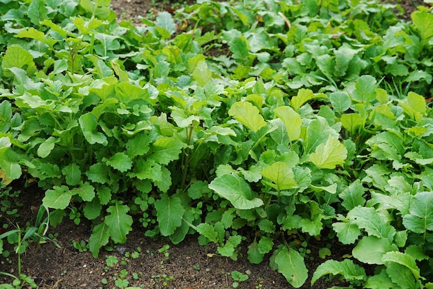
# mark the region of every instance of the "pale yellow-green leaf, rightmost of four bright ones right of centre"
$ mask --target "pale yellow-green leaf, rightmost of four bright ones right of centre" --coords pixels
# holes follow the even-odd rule
[[[337,165],[343,165],[347,158],[347,149],[336,138],[328,138],[326,144],[320,144],[315,152],[311,153],[310,161],[319,169],[335,169]]]

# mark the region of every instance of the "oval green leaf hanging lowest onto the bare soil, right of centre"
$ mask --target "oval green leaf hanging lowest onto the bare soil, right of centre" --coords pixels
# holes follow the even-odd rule
[[[284,247],[275,257],[278,272],[282,273],[288,283],[295,288],[304,285],[308,278],[308,270],[305,267],[304,258],[295,249]]]

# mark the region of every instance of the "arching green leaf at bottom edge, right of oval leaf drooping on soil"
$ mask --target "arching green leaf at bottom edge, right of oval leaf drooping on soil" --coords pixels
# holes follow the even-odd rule
[[[313,273],[313,278],[311,278],[311,286],[320,279],[321,277],[332,274],[332,275],[342,275],[347,281],[363,280],[365,279],[365,270],[356,265],[350,259],[344,259],[343,261],[328,260],[320,264],[315,272]]]

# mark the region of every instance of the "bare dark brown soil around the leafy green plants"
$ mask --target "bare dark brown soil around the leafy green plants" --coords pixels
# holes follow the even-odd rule
[[[190,1],[190,0],[189,0]],[[421,0],[397,0],[405,10],[405,19],[409,19],[410,13],[421,5]],[[176,9],[176,4],[169,1],[158,0],[112,0],[112,8],[118,14],[119,19],[138,19],[151,17],[158,11]],[[156,4],[155,4],[156,3]],[[139,22],[139,21],[138,21]],[[21,218],[9,220],[0,218],[0,225],[20,223],[23,227],[27,221],[32,222],[35,218],[35,207],[42,203],[44,192],[37,188],[37,185],[24,187],[21,183],[12,183],[16,189],[21,189],[19,202],[23,206],[19,209]],[[32,209],[33,208],[33,209]],[[36,209],[37,211],[37,209]],[[136,222],[138,223],[138,222]],[[201,246],[198,244],[196,236],[190,236],[179,245],[173,245],[168,240],[154,241],[145,236],[142,227],[135,227],[128,235],[125,245],[122,245],[129,252],[142,249],[139,257],[127,258],[126,265],[116,265],[109,270],[105,270],[107,256],[118,257],[122,260],[123,255],[115,250],[107,252],[102,250],[98,259],[91,256],[90,252],[78,252],[72,246],[73,240],[86,241],[91,234],[90,223],[75,225],[73,221],[64,218],[62,224],[51,227],[49,233],[57,233],[57,242],[61,248],[56,248],[53,243],[42,245],[30,244],[26,253],[22,256],[22,272],[33,277],[38,284],[38,288],[114,288],[114,277],[119,276],[122,269],[127,270],[129,286],[142,286],[142,288],[232,288],[233,279],[230,272],[237,270],[242,273],[249,273],[247,281],[240,283],[238,288],[292,288],[284,279],[282,274],[270,269],[268,259],[259,265],[251,264],[246,258],[246,247],[248,241],[244,242],[241,256],[238,261],[232,261],[223,257],[208,257],[208,253],[214,253],[216,248],[213,246]],[[7,242],[6,242],[7,243]],[[163,245],[169,245],[168,257],[158,252]],[[326,282],[321,279],[310,286],[311,275],[317,265],[325,259],[318,256],[319,248],[326,244],[312,240],[308,243],[311,253],[307,255],[306,263],[309,269],[309,279],[302,288],[329,288],[331,286],[347,286],[349,284],[333,280]],[[6,249],[8,244],[5,244]],[[120,249],[120,248],[118,248]],[[351,250],[347,247],[331,247],[333,259],[342,259],[344,254],[350,254]],[[125,259],[125,257],[123,257]],[[10,258],[0,257],[0,272],[17,274],[17,256],[11,254]],[[137,274],[136,279],[133,273]],[[165,277],[169,279],[164,285]],[[102,279],[107,279],[107,284],[102,283]],[[0,275],[1,283],[10,282],[11,279]]]

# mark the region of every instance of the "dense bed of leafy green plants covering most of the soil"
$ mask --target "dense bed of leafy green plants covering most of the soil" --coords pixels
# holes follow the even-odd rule
[[[91,220],[94,257],[136,220],[295,288],[433,288],[430,8],[201,0],[134,26],[109,0],[0,3],[3,182]],[[308,272],[311,238],[352,256]]]

